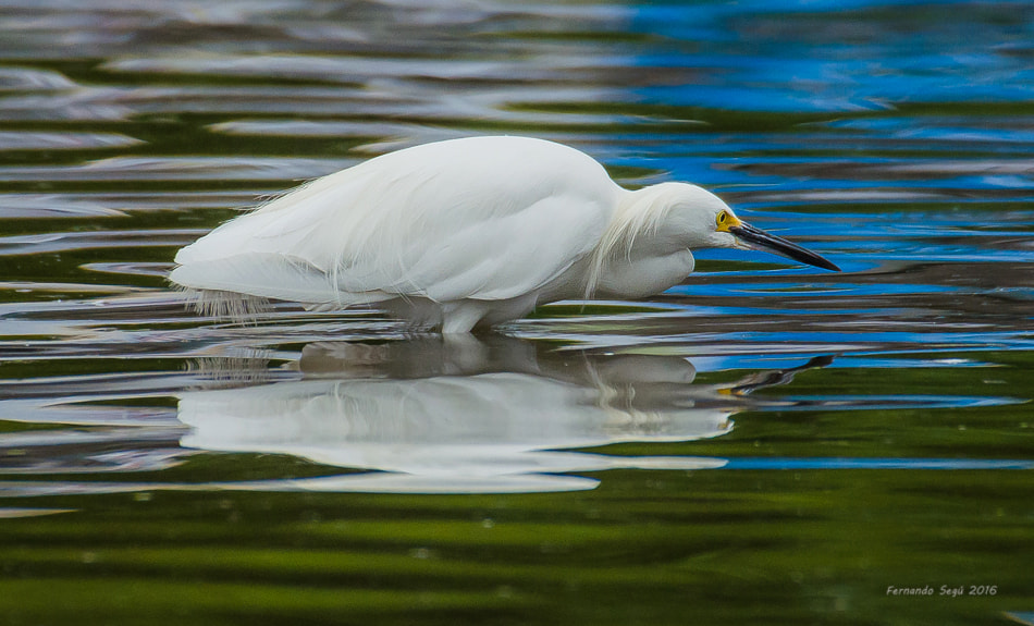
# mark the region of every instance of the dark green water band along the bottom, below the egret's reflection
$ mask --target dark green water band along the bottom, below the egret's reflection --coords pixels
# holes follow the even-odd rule
[[[12,624],[971,624],[1029,606],[1029,530],[1025,472],[621,470],[577,495],[150,492],[7,520],[0,589]],[[927,585],[997,591],[887,594]]]

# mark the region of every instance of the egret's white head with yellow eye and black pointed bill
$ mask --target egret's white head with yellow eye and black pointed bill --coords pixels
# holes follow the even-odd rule
[[[665,183],[639,193],[644,193],[643,199],[650,201],[655,211],[651,220],[657,235],[674,245],[690,250],[762,250],[810,266],[840,271],[840,268],[815,253],[740,220],[719,197],[696,185]]]

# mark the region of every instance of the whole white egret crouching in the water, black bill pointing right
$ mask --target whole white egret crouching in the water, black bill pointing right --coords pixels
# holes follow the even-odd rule
[[[376,304],[465,333],[571,298],[660,293],[700,248],[761,249],[839,271],[685,183],[617,185],[574,148],[470,137],[383,155],[301,185],[176,254],[201,307],[266,298],[317,310]]]

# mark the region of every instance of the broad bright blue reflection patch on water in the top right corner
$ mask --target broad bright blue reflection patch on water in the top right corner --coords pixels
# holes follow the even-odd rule
[[[1034,96],[1024,58],[1032,9],[1006,4],[1008,14],[971,2],[907,10],[878,1],[637,7],[633,28],[684,44],[642,56],[640,64],[693,67],[694,78],[639,93],[669,105],[778,112],[1024,101]],[[887,11],[897,11],[899,22],[888,26]]]

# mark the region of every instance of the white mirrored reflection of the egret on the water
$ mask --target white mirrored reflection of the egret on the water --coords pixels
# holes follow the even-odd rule
[[[575,474],[703,469],[723,459],[579,452],[621,442],[684,442],[729,432],[731,415],[793,402],[750,392],[828,358],[725,384],[694,384],[685,358],[592,354],[502,335],[318,343],[301,380],[192,392],[181,445],[275,453],[368,470],[293,488],[406,493],[592,489]]]

